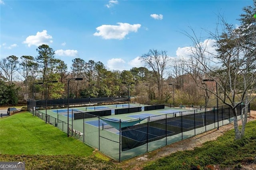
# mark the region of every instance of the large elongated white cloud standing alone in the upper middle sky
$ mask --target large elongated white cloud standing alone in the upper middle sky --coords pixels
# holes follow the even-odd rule
[[[137,32],[140,28],[140,24],[128,24],[128,23],[117,23],[118,26],[113,25],[102,25],[96,28],[98,32],[95,32],[94,36],[101,36],[104,39],[119,39],[122,40],[129,32]]]

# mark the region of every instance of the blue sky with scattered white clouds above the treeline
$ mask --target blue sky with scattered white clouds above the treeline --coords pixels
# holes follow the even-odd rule
[[[149,49],[186,55],[181,34],[192,27],[214,31],[217,15],[234,26],[252,0],[0,0],[0,59],[38,55],[45,43],[68,69],[72,59],[101,61],[109,70],[144,66]],[[206,38],[207,39],[207,38]]]

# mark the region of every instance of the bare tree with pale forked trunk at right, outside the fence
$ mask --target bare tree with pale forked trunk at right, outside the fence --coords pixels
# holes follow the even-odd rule
[[[254,4],[256,1],[254,1]],[[248,8],[245,8],[248,13]],[[244,10],[245,10],[244,9]],[[256,12],[255,8],[254,13]],[[246,12],[245,10],[245,12]],[[251,12],[253,13],[253,12]],[[254,14],[253,13],[253,14]],[[249,17],[249,18],[252,18]],[[206,89],[198,83],[198,86],[214,94],[224,104],[230,106],[234,113],[234,129],[236,139],[244,136],[245,125],[247,122],[247,109],[250,101],[254,99],[252,92],[256,89],[256,38],[248,36],[255,34],[256,21],[246,20],[241,22],[241,26],[234,28],[228,24],[223,17],[220,17],[221,30],[216,29],[215,33],[209,32],[216,43],[216,51],[210,51],[207,43],[202,43],[194,32],[186,35],[192,40],[193,46],[189,51],[192,53],[190,61],[187,61],[187,71],[196,82],[198,79],[211,79],[215,89]],[[241,20],[245,19],[245,16]],[[193,31],[193,30],[192,30]],[[254,44],[254,45],[252,45]],[[244,104],[242,110],[242,128],[238,127],[237,107]]]

